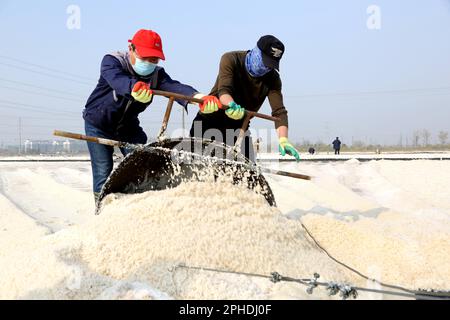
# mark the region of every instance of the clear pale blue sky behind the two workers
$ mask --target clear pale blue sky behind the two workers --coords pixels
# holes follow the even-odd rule
[[[71,4],[81,8],[81,30],[66,27]],[[381,8],[381,30],[366,26],[372,4]],[[161,34],[168,73],[203,92],[223,53],[250,49],[265,34],[280,38],[296,142],[339,135],[397,143],[401,134],[411,141],[415,129],[450,131],[448,0],[0,0],[0,140],[17,143],[19,117],[24,139],[50,139],[56,128],[82,132],[81,111],[103,55],[126,49],[140,28]],[[149,135],[158,131],[163,105],[159,99],[142,116]],[[177,109],[172,129],[180,119]],[[258,120],[253,127],[272,125]]]

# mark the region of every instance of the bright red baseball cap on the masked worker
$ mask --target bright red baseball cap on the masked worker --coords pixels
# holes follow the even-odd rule
[[[162,50],[161,37],[152,30],[141,29],[128,42],[135,46],[138,54],[143,58],[157,57],[166,60]]]

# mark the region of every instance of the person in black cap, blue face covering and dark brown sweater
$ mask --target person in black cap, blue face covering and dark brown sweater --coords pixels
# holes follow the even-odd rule
[[[275,123],[279,151],[282,156],[288,154],[299,161],[299,153],[288,139],[288,112],[284,106],[278,72],[284,52],[284,44],[268,35],[259,39],[252,50],[225,53],[220,61],[219,75],[211,95],[230,108],[226,111],[219,107],[216,110],[199,112],[192,123],[191,136],[205,138],[208,137],[207,131],[216,131],[222,135],[223,140],[220,142],[232,145],[237,140],[236,130],[244,124],[245,111],[258,112],[268,99],[272,116],[280,119]],[[254,161],[249,128],[244,129],[247,134],[242,154]]]

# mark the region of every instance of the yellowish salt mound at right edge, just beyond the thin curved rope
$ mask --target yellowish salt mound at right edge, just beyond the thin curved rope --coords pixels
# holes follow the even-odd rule
[[[379,281],[415,290],[450,288],[448,222],[440,232],[427,233],[417,228],[427,219],[405,220],[393,211],[350,223],[318,215],[303,221],[335,258]]]

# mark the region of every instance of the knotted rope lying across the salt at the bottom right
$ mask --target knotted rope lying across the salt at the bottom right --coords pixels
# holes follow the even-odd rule
[[[379,294],[412,298],[412,299],[420,298],[423,300],[450,300],[449,298],[444,298],[444,297],[433,297],[433,296],[429,296],[429,295],[420,295],[420,294],[402,293],[402,292],[394,292],[394,291],[387,291],[387,290],[361,288],[361,287],[355,287],[355,286],[351,286],[349,284],[343,284],[343,283],[337,283],[337,282],[319,282],[318,279],[320,278],[320,275],[317,273],[314,274],[312,279],[295,279],[295,278],[291,278],[291,277],[282,276],[278,272],[273,272],[273,273],[271,273],[270,276],[268,276],[268,275],[262,275],[262,274],[256,274],[256,273],[236,272],[236,271],[219,270],[219,269],[213,269],[213,268],[192,267],[192,266],[187,266],[185,264],[176,265],[173,268],[169,269],[169,272],[174,273],[178,269],[188,269],[188,270],[216,272],[216,273],[223,273],[223,274],[242,275],[242,276],[255,277],[255,278],[264,278],[264,279],[269,279],[273,283],[293,282],[293,283],[298,283],[298,284],[306,286],[307,287],[306,292],[308,294],[313,294],[314,290],[317,287],[324,287],[328,291],[329,296],[336,296],[337,294],[339,294],[343,300],[347,300],[350,298],[356,299],[358,297],[358,291],[379,293]]]

